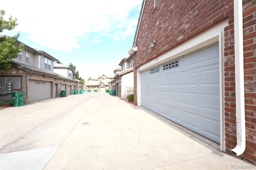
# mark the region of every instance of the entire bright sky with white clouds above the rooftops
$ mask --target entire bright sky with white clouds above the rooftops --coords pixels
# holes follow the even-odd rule
[[[87,80],[114,74],[129,57],[142,0],[6,0],[0,10],[18,26],[0,34],[20,33],[19,41],[62,64],[72,63]]]

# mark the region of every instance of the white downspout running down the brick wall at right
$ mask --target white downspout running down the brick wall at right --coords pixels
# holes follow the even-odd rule
[[[236,147],[232,153],[242,154],[246,147],[244,108],[244,53],[242,0],[234,0],[234,49],[236,83]]]

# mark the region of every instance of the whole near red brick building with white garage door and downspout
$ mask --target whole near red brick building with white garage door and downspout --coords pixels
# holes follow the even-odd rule
[[[255,165],[256,1],[241,2],[143,0],[134,104]]]

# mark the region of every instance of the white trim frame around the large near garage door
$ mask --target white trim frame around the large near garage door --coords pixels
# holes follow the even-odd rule
[[[220,68],[220,150],[225,150],[224,145],[224,113],[223,111],[223,63],[222,63],[222,56],[223,56],[223,31],[224,27],[228,26],[228,20],[223,21],[222,23],[219,23],[218,25],[212,27],[211,29],[205,31],[204,33],[201,33],[200,35],[194,37],[193,39],[187,41],[186,43],[172,49],[171,51],[168,51],[167,53],[159,56],[158,58],[149,61],[148,63],[145,63],[137,68],[137,105],[141,106],[141,75],[140,73],[144,70],[147,70],[149,68],[152,68],[154,66],[158,66],[160,64],[163,64],[167,61],[170,61],[172,59],[178,58],[182,55],[185,55],[187,53],[190,53],[192,51],[195,51],[197,49],[200,49],[202,47],[205,47],[207,45],[210,45],[214,42],[219,42],[219,68]]]

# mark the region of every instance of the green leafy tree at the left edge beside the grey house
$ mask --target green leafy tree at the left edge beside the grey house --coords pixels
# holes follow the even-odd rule
[[[4,20],[4,14],[5,11],[0,10],[1,33],[6,29],[12,30],[18,25],[17,18],[13,19],[12,16],[10,16],[8,20]],[[19,36],[19,34],[14,37],[0,36],[0,70],[8,70],[12,65],[12,59],[18,57],[18,53],[23,50],[23,44],[17,45]]]

